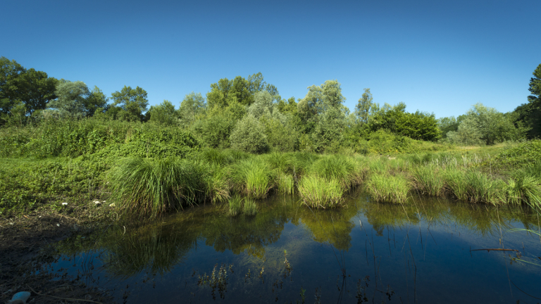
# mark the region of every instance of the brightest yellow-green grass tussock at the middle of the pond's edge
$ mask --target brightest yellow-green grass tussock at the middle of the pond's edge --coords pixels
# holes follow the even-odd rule
[[[313,208],[335,208],[342,203],[342,185],[337,179],[305,176],[299,182],[299,194]]]

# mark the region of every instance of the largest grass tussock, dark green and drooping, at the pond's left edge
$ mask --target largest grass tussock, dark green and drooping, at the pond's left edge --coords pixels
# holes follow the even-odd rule
[[[111,172],[111,201],[126,213],[156,217],[202,201],[202,175],[189,160],[128,158]]]

